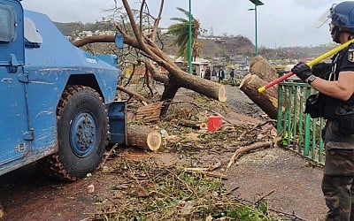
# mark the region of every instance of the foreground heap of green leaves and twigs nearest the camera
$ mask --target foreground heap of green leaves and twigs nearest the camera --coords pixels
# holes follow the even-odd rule
[[[189,173],[178,165],[163,167],[150,160],[124,161],[107,172],[117,173],[128,181],[111,188],[112,192],[120,193],[92,215],[95,220],[205,220],[208,217],[273,220],[265,200],[245,204],[231,199],[221,179]]]

